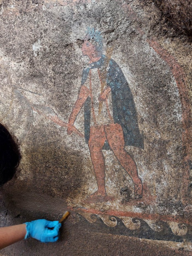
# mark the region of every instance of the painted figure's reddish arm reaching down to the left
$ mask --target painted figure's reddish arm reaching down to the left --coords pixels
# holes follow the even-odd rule
[[[75,102],[75,105],[74,105],[72,112],[70,114],[70,117],[69,117],[70,124],[72,124],[72,125],[74,124],[78,113],[80,112],[81,108],[83,107],[83,105],[89,95],[90,95],[89,89],[84,85],[81,86],[77,100]],[[70,134],[72,131],[70,130],[70,128],[68,128],[67,132],[68,132],[68,134]]]

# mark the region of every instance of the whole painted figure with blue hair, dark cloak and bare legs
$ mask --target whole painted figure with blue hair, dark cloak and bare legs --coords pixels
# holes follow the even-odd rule
[[[128,82],[110,50],[103,55],[101,33],[88,28],[82,53],[89,57],[83,70],[81,88],[69,117],[69,124],[84,106],[84,132],[97,180],[98,190],[91,198],[105,197],[105,159],[102,149],[111,149],[119,164],[131,177],[135,198],[141,198],[142,181],[134,159],[125,145],[143,148],[137,123],[137,112]],[[67,133],[73,131],[68,127]]]

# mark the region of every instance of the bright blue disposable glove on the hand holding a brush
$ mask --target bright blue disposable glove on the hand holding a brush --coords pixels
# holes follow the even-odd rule
[[[58,240],[61,223],[59,221],[34,220],[26,222],[27,233],[25,238],[35,238],[42,243],[56,242]]]

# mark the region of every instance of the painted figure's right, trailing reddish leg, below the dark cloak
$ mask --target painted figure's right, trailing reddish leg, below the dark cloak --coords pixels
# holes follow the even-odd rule
[[[143,185],[141,179],[138,176],[135,161],[131,158],[131,156],[124,148],[125,142],[122,127],[117,123],[106,125],[105,132],[112,151],[114,152],[118,161],[133,181],[135,197],[142,197]]]

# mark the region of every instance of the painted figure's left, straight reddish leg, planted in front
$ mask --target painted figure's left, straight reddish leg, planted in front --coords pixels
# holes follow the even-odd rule
[[[102,147],[105,143],[106,135],[104,126],[92,126],[90,129],[89,150],[91,161],[97,179],[98,190],[92,196],[105,196],[105,159]]]

